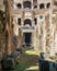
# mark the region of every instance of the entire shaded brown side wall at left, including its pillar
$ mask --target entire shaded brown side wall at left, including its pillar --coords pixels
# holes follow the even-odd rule
[[[14,51],[10,1],[0,0],[0,60]],[[8,8],[7,8],[8,7]]]

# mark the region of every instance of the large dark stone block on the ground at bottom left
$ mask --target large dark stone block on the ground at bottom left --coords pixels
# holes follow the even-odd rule
[[[11,57],[8,57],[1,61],[1,66],[3,70],[11,70],[15,67],[15,60]]]

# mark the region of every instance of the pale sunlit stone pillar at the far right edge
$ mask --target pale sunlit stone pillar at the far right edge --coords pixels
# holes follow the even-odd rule
[[[53,24],[54,24],[54,49],[56,54],[57,52],[57,14],[54,14]]]

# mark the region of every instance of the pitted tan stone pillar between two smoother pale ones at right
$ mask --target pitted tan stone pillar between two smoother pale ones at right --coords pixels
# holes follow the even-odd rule
[[[46,54],[49,54],[50,46],[49,46],[49,39],[50,39],[50,25],[49,25],[49,13],[45,13],[45,29],[46,29]]]

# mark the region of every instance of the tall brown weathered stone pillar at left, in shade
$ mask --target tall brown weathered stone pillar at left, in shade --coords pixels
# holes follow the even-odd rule
[[[7,47],[7,54],[11,55],[14,51],[13,47],[13,23],[12,23],[12,16],[11,16],[11,0],[5,1],[5,47]],[[8,7],[8,8],[7,8]]]

